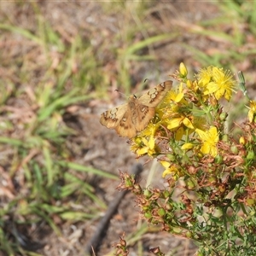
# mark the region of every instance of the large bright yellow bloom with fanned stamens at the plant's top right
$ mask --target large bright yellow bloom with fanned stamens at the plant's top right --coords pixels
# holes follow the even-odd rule
[[[224,97],[230,101],[232,91],[235,88],[235,80],[233,80],[233,74],[229,70],[207,67],[199,73],[199,78],[199,84],[205,89],[205,95],[213,94],[217,100]]]

